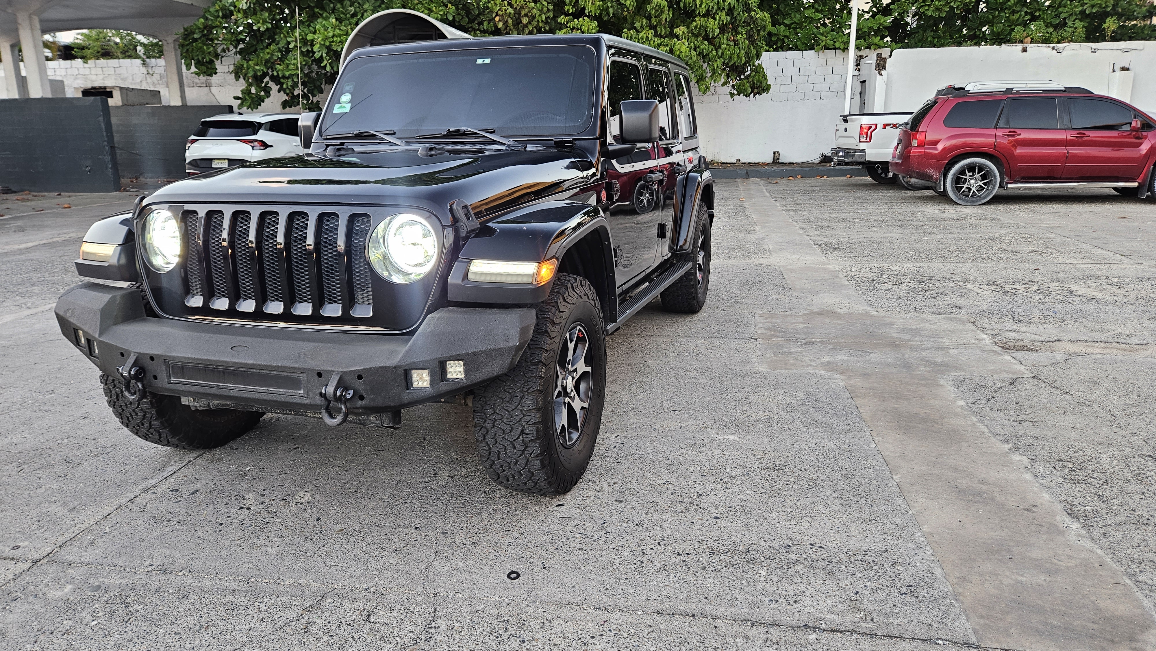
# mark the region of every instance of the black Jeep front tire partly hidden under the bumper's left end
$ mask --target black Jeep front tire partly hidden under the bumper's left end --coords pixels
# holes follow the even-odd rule
[[[265,414],[237,409],[192,409],[176,395],[144,393],[140,402],[125,395],[125,383],[101,373],[112,413],[140,438],[181,450],[220,447],[253,429]]]

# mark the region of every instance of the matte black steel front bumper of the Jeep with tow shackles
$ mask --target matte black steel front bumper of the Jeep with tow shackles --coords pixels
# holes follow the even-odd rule
[[[506,372],[534,331],[533,309],[443,308],[413,335],[332,332],[146,317],[139,289],[83,283],[57,302],[60,331],[103,372],[133,354],[147,391],[259,410],[318,413],[334,373],[349,414],[394,412]],[[446,377],[460,361],[464,379]],[[412,387],[428,369],[430,386]]]

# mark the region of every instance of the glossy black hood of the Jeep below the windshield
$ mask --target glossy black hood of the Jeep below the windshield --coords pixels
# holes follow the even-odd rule
[[[581,185],[588,178],[584,171],[594,167],[578,148],[432,154],[407,147],[333,158],[269,158],[166,185],[147,204],[401,204],[444,219],[449,205],[462,199],[486,217]]]

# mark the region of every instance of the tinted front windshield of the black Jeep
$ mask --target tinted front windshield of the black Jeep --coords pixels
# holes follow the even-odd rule
[[[573,135],[594,118],[594,69],[585,45],[360,57],[329,94],[321,135],[413,138],[462,127]]]

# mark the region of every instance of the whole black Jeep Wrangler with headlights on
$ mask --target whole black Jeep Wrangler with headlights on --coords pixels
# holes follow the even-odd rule
[[[565,493],[598,438],[606,335],[655,296],[706,299],[714,190],[689,90],[679,59],[603,35],[357,50],[301,117],[309,155],[94,224],[61,331],[153,443],[464,402],[495,481]]]

